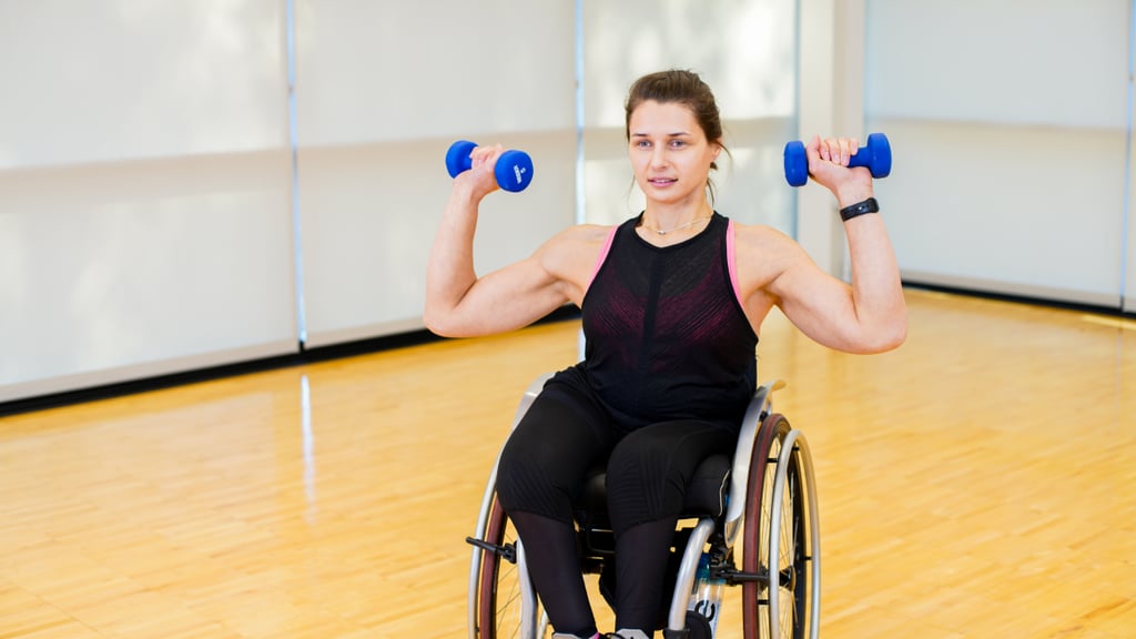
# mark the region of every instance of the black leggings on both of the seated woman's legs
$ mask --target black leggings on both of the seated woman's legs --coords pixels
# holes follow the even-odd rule
[[[529,574],[557,632],[596,631],[571,509],[587,470],[608,459],[618,557],[616,628],[650,637],[686,484],[704,458],[732,453],[736,441],[736,430],[694,420],[628,432],[590,392],[557,380],[544,388],[502,450],[496,491],[525,543]]]

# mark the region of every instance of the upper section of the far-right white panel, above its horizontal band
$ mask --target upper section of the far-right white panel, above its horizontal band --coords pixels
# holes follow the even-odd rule
[[[882,119],[1122,130],[1127,0],[868,0]]]

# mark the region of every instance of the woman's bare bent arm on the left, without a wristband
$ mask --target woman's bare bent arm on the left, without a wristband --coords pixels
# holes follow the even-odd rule
[[[473,167],[453,181],[426,267],[426,327],[444,337],[476,337],[526,326],[569,301],[566,285],[544,264],[554,238],[532,257],[478,277],[474,231],[482,199],[498,189],[493,166],[501,147],[478,147]],[[562,240],[560,240],[562,242]]]

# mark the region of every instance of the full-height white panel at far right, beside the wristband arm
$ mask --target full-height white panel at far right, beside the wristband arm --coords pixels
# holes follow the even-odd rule
[[[1119,307],[1129,2],[867,6],[866,110],[895,152],[877,192],[904,277]]]

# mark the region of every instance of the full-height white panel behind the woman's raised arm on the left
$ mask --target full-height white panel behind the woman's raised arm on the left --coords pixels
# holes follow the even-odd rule
[[[309,346],[423,326],[454,140],[524,149],[535,165],[523,193],[485,200],[481,272],[573,223],[571,2],[312,0],[296,18]]]

